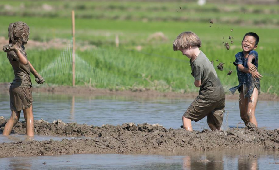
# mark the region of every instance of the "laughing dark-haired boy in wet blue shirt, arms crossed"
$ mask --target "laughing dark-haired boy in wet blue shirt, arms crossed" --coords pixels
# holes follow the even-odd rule
[[[260,78],[258,72],[258,47],[259,36],[256,33],[246,33],[243,37],[241,52],[235,55],[234,65],[236,66],[239,85],[230,88],[234,94],[239,91],[240,117],[245,125],[249,122],[258,126],[255,110],[260,93]]]

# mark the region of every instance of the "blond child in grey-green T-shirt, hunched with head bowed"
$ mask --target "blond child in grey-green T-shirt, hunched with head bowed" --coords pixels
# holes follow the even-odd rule
[[[199,87],[199,95],[182,116],[183,128],[192,131],[191,121],[199,121],[207,116],[211,130],[221,130],[225,109],[225,92],[213,65],[199,50],[200,38],[193,32],[183,32],[173,42],[173,50],[180,50],[190,59],[194,85]]]

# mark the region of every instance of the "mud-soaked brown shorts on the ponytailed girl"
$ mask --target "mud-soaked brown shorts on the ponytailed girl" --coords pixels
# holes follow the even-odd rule
[[[32,106],[32,87],[23,85],[10,86],[11,110],[20,111]]]

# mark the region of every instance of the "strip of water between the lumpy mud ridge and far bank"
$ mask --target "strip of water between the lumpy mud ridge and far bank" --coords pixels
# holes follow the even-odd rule
[[[88,125],[118,125],[127,122],[159,123],[166,128],[179,128],[181,116],[192,99],[139,99],[124,97],[73,97],[34,94],[34,119],[52,122],[61,119],[65,123],[77,122]],[[10,116],[9,96],[0,96],[0,116]],[[259,128],[278,128],[278,101],[259,101],[256,118]],[[239,116],[238,101],[226,100],[223,129],[243,127]],[[23,120],[23,115],[20,120]],[[206,119],[193,122],[194,130],[209,129]],[[1,139],[0,139],[1,140]]]

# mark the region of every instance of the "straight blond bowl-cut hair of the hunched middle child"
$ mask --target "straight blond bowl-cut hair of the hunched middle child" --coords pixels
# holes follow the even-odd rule
[[[176,37],[173,42],[173,50],[183,50],[188,47],[198,46],[199,48],[202,46],[201,39],[193,32],[183,32]]]

